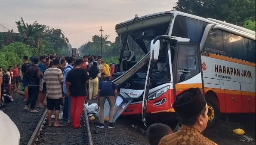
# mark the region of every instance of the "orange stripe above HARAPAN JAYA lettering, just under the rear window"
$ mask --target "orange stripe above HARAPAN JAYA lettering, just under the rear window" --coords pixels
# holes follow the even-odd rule
[[[204,55],[204,56],[205,56],[205,55]],[[227,56],[221,56],[221,55],[209,53],[209,56],[208,56],[208,57],[215,58],[215,59],[221,59],[221,60],[225,60],[225,61],[228,61],[228,62],[239,63],[239,64],[242,64],[242,65],[248,65],[248,66],[253,66],[253,67],[255,67],[255,63],[246,62],[246,61],[243,61],[243,60],[234,59],[234,58],[230,58],[230,57],[227,57]]]

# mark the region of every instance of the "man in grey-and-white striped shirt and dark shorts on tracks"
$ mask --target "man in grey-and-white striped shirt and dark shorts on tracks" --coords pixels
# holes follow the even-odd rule
[[[59,60],[52,61],[52,67],[44,72],[43,81],[46,82],[46,101],[47,101],[47,115],[48,118],[52,116],[52,110],[55,108],[55,127],[61,127],[59,124],[59,110],[62,104],[62,83],[64,77],[62,71],[58,68]],[[52,126],[52,120],[48,119],[48,126]]]

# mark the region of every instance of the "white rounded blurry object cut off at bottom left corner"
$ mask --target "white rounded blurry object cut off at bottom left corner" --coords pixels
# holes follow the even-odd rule
[[[0,110],[0,144],[19,145],[20,133],[14,122]]]

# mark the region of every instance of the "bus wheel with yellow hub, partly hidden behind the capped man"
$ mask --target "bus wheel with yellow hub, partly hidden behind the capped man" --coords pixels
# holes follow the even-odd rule
[[[217,105],[217,101],[213,97],[211,98],[206,98],[207,105],[208,105],[208,124],[207,127],[211,128],[214,126],[216,121],[219,119],[220,112],[219,112],[219,107]]]

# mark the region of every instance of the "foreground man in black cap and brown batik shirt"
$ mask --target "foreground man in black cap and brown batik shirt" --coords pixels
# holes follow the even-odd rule
[[[164,136],[158,145],[217,145],[201,134],[207,127],[208,107],[199,88],[190,88],[177,95],[173,108],[182,127]]]

